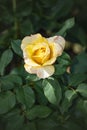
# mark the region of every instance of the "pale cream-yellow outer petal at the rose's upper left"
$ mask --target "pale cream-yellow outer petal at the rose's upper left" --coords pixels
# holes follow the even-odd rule
[[[35,41],[38,37],[41,37],[39,33],[24,37],[24,39],[22,40],[21,49],[24,50],[29,44]]]

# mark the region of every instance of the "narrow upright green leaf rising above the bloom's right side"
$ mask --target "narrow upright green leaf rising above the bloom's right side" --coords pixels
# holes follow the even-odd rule
[[[58,35],[65,35],[66,31],[70,28],[72,28],[75,24],[74,18],[70,18],[66,20],[63,24],[63,27],[60,29],[60,31],[57,33]]]

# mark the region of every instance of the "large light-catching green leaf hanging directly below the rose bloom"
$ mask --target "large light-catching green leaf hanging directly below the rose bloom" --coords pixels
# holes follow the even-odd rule
[[[43,90],[50,103],[55,105],[59,104],[62,92],[61,87],[56,79],[45,79],[43,81]]]

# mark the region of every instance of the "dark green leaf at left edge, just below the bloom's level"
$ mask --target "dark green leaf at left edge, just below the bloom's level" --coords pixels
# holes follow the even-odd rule
[[[2,90],[9,90],[16,86],[22,85],[21,77],[15,74],[9,74],[9,75],[3,76],[0,78],[0,81],[1,81]]]

